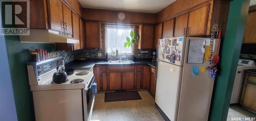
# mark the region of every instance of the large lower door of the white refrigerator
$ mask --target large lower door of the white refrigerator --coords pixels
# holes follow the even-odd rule
[[[182,67],[158,61],[155,102],[170,120],[176,120]]]

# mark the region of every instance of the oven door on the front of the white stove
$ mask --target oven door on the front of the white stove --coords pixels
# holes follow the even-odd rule
[[[95,94],[93,93],[94,76],[88,82],[87,88],[83,91],[84,120],[90,120],[92,116]]]

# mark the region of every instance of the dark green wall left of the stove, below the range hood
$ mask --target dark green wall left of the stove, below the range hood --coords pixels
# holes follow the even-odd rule
[[[32,94],[27,76],[27,62],[34,49],[54,50],[54,44],[20,43],[18,36],[5,36],[12,87],[18,120],[35,120]]]

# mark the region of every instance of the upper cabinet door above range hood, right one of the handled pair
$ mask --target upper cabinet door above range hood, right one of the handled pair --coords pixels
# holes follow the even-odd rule
[[[63,5],[63,21],[65,26],[65,33],[72,35],[72,12],[68,6]]]

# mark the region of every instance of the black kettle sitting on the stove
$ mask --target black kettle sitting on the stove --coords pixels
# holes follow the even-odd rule
[[[62,63],[56,67],[57,72],[54,72],[53,77],[52,77],[52,82],[54,84],[61,84],[65,83],[68,81],[68,75],[65,71],[65,66],[64,66],[64,60]]]

